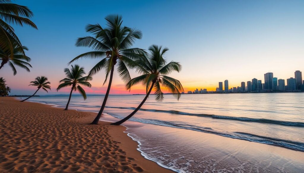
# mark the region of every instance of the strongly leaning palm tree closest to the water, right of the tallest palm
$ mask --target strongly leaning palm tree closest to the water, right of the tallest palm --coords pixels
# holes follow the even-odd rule
[[[177,99],[181,97],[180,92],[184,91],[183,86],[178,80],[167,76],[171,72],[179,72],[181,70],[181,65],[174,61],[166,64],[164,54],[168,50],[168,48],[162,49],[161,46],[152,45],[149,48],[149,53],[147,53],[147,56],[144,56],[142,60],[136,61],[138,64],[136,70],[142,75],[131,79],[126,84],[126,88],[130,89],[133,85],[142,83],[146,87],[147,95],[130,115],[120,121],[112,123],[111,125],[121,125],[123,122],[131,118],[147,100],[153,88],[155,90],[154,94],[157,101],[162,101],[164,99],[161,86],[168,89],[168,91],[171,92]]]

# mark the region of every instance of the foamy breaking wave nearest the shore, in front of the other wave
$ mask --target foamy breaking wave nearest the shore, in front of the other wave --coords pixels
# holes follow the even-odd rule
[[[116,118],[124,118],[121,115],[116,115],[116,114],[112,114],[112,113],[111,113],[111,115]],[[258,142],[258,143],[268,144],[268,145],[275,145],[275,146],[280,146],[280,147],[304,152],[304,143],[303,142],[284,140],[284,139],[279,139],[279,138],[271,138],[271,137],[267,137],[267,136],[255,135],[255,134],[250,134],[250,133],[245,133],[245,132],[219,132],[212,128],[205,128],[205,127],[189,125],[189,124],[179,124],[179,123],[175,123],[172,121],[162,121],[162,120],[155,120],[155,119],[135,118],[135,117],[130,118],[130,120],[145,123],[145,124],[154,124],[154,125],[161,125],[161,126],[174,127],[174,128],[183,128],[183,129],[200,131],[200,132],[205,132],[205,133],[212,133],[212,134],[220,135],[220,136],[224,136],[224,137],[241,139],[241,140],[246,140],[246,141],[253,141],[253,142]]]

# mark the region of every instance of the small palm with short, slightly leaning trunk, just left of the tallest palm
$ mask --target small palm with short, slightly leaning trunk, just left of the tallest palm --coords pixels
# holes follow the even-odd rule
[[[70,92],[70,97],[69,100],[67,101],[67,106],[65,107],[64,110],[67,110],[70,100],[71,100],[71,96],[72,96],[72,92],[74,91],[79,91],[79,93],[82,95],[82,97],[84,99],[87,99],[87,95],[85,94],[85,90],[83,88],[81,88],[80,85],[84,85],[87,87],[91,87],[92,85],[87,82],[87,81],[91,81],[92,77],[89,76],[83,76],[85,74],[85,70],[83,67],[79,67],[79,65],[72,65],[71,71],[68,68],[64,69],[65,75],[67,76],[67,78],[62,79],[61,81],[59,81],[61,84],[59,84],[57,91],[60,90],[61,88],[67,87],[67,86],[72,86],[71,92]]]

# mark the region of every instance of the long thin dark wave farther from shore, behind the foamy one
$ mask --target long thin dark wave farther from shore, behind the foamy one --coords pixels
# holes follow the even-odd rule
[[[106,108],[132,109],[132,110],[136,109],[133,107],[115,107],[115,106],[106,106]],[[212,115],[212,114],[193,114],[193,113],[181,112],[181,111],[175,111],[175,110],[166,111],[166,110],[142,109],[142,108],[140,108],[139,110],[140,111],[149,111],[149,112],[164,112],[164,113],[179,114],[179,115],[193,115],[193,116],[199,116],[199,117],[228,119],[228,120],[236,120],[236,121],[250,121],[250,122],[304,127],[304,122],[295,122],[295,121],[280,121],[280,120],[272,120],[272,119],[265,119],[265,118],[232,117],[232,116]]]

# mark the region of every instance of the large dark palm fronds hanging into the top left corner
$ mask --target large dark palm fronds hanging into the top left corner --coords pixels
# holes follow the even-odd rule
[[[32,16],[33,12],[28,7],[13,4],[11,0],[0,0],[0,49],[9,51],[11,58],[14,55],[14,44],[19,48],[22,48],[22,44],[10,25],[23,26],[25,24],[37,29],[37,26],[29,20]],[[23,52],[22,49],[21,51]]]

